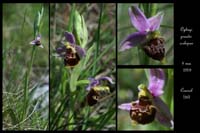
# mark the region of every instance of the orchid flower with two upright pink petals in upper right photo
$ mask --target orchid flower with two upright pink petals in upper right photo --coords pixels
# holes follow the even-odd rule
[[[121,42],[120,51],[140,45],[149,57],[161,61],[165,56],[165,48],[164,39],[160,37],[158,30],[163,13],[159,12],[151,18],[147,18],[137,6],[130,7],[128,12],[132,25],[138,31],[128,35]]]

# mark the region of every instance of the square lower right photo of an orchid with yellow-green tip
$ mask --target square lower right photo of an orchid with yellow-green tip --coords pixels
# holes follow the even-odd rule
[[[174,128],[174,71],[118,69],[118,130]]]

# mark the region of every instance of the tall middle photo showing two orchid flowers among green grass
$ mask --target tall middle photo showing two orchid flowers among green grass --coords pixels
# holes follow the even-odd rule
[[[50,130],[116,130],[116,4],[50,4]]]

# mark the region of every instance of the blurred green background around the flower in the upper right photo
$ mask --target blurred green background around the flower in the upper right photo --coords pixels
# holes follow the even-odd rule
[[[133,4],[134,5],[134,4]],[[137,5],[137,4],[135,4]],[[136,32],[132,26],[130,17],[128,15],[128,8],[131,4],[118,4],[117,11],[117,35],[118,35],[118,49],[121,41],[129,34]],[[161,23],[160,32],[161,36],[165,39],[165,65],[173,65],[174,63],[174,6],[173,3],[158,3],[157,12],[163,12],[164,17]],[[159,61],[149,59],[150,65],[160,65]],[[138,48],[133,47],[129,50],[118,51],[118,65],[140,65],[138,57]],[[148,65],[148,64],[141,64]]]

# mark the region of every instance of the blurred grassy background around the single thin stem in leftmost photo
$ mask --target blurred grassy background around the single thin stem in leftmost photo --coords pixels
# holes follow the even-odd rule
[[[31,60],[34,40],[34,20],[44,6],[41,42],[44,48],[37,48],[30,74],[29,117],[22,120],[25,73]],[[43,130],[48,124],[48,102],[36,89],[47,85],[49,75],[49,5],[48,4],[3,4],[3,129],[4,130]],[[36,98],[37,97],[37,98]],[[36,99],[35,99],[36,98]],[[36,104],[37,103],[37,104]],[[40,106],[40,107],[39,107]],[[34,110],[35,109],[35,110]],[[47,114],[46,114],[47,113]]]

